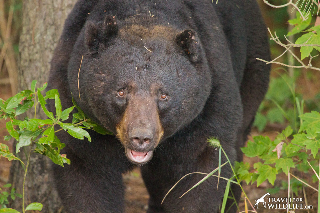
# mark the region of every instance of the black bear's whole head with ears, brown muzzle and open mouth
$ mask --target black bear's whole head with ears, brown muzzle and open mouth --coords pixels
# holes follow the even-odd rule
[[[114,17],[106,20],[86,26],[81,72],[87,102],[128,159],[142,164],[161,140],[201,113],[211,76],[193,31],[137,25],[118,30]]]

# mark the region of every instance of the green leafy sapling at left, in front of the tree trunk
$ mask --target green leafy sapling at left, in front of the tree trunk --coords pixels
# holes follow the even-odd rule
[[[44,83],[40,88],[36,87],[36,83],[37,81],[31,83],[31,90],[21,91],[7,100],[0,99],[0,119],[8,119],[6,122],[6,129],[8,130],[9,135],[5,136],[4,140],[10,140],[11,138],[17,140],[16,153],[20,152],[21,147],[28,146],[30,148],[28,154],[26,154],[27,159],[25,163],[18,156],[11,153],[7,145],[0,143],[0,157],[5,157],[9,161],[20,161],[25,171],[22,185],[23,213],[28,210],[42,209],[41,203],[31,203],[25,208],[25,180],[29,167],[29,159],[32,153],[43,154],[49,157],[52,162],[63,166],[64,163],[70,164],[70,160],[65,154],[60,154],[60,151],[65,147],[65,144],[60,142],[59,138],[55,135],[56,132],[65,130],[74,138],[87,138],[90,142],[91,137],[85,129],[95,130],[100,134],[112,134],[98,123],[88,118],[73,99],[73,106],[62,111],[58,90],[52,89],[45,92],[45,95],[43,95],[41,92],[46,89],[47,83]],[[55,115],[47,110],[45,106],[47,99],[54,99],[56,109]],[[46,114],[46,119],[39,119],[36,117],[38,105],[40,105],[42,111]],[[31,108],[34,108],[35,111],[34,118],[26,117],[23,121],[16,119],[18,115],[25,113]],[[69,119],[69,115],[74,111],[74,108],[76,108],[78,112],[73,113],[72,123],[65,122]],[[0,202],[0,212],[19,213],[19,211],[6,208],[6,206],[3,205],[5,204],[4,201],[7,201],[9,193],[3,192],[2,194],[3,202]],[[14,195],[14,193],[11,194]],[[14,199],[13,195],[12,199]],[[0,201],[2,201],[2,197],[0,196]]]

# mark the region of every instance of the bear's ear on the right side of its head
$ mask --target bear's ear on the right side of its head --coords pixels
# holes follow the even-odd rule
[[[200,44],[196,32],[186,29],[178,33],[175,38],[176,43],[189,56],[193,63],[200,60]]]

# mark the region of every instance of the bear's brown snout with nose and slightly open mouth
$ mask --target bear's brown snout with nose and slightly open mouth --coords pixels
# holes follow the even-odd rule
[[[124,145],[127,158],[134,163],[147,162],[162,135],[163,128],[154,99],[132,97],[117,125],[117,138]]]

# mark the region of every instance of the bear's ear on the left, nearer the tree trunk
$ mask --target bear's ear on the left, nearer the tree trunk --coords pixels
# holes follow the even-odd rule
[[[105,44],[110,37],[116,35],[118,25],[116,17],[106,15],[103,21],[94,23],[87,21],[84,32],[84,43],[88,50],[95,51]]]

